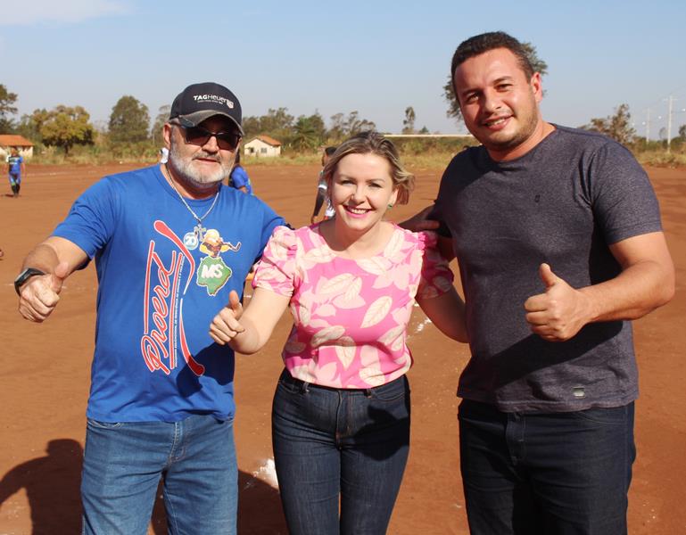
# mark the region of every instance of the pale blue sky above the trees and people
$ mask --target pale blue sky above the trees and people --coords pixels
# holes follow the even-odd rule
[[[442,86],[459,42],[501,29],[531,42],[548,63],[545,119],[580,126],[628,103],[650,137],[686,124],[686,2],[338,3],[203,0],[0,0],[0,83],[20,114],[82,105],[106,123],[122,95],[155,116],[186,85],[218,81],[244,115],[285,107],[298,116],[360,112],[399,132],[464,131],[448,119]],[[665,132],[663,131],[663,136]]]

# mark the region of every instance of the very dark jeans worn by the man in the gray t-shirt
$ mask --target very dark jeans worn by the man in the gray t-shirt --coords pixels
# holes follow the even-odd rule
[[[459,441],[473,535],[626,533],[633,403],[522,414],[465,399]]]

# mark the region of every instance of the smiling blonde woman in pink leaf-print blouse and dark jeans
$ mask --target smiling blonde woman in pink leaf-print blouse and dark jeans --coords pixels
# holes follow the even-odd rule
[[[324,176],[335,218],[277,227],[250,306],[243,311],[232,294],[210,333],[253,353],[290,308],[293,329],[272,410],[289,531],[381,534],[409,452],[405,374],[412,357],[405,339],[413,304],[466,342],[463,303],[435,235],[383,220],[414,185],[389,140],[373,132],[352,137]]]

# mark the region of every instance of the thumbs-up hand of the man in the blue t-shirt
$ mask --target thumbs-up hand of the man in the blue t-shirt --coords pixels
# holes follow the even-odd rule
[[[21,316],[42,323],[53,313],[60,300],[62,284],[70,274],[69,264],[60,262],[53,273],[32,276],[21,286],[19,312]]]

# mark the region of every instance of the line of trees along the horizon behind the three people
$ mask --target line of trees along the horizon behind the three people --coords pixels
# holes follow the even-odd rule
[[[548,72],[548,64],[538,56],[531,43],[524,43],[525,52],[533,70]],[[457,121],[462,120],[459,103],[453,91],[450,75],[442,87],[443,98],[448,104],[446,114]],[[148,107],[132,95],[122,96],[112,107],[106,128],[95,128],[89,113],[82,106],[55,106],[52,110],[37,109],[30,114],[13,119],[17,113],[14,105],[18,95],[0,84],[0,134],[20,134],[36,144],[37,152],[42,147],[57,147],[66,155],[75,145],[96,145],[103,151],[114,155],[124,152],[151,152],[162,145],[161,127],[169,117],[169,105],[161,106],[151,128]],[[403,134],[428,134],[428,129],[415,128],[416,113],[412,106],[405,109],[402,120]],[[324,117],[315,111],[311,115],[298,117],[288,113],[288,109],[270,108],[261,116],[244,117],[246,140],[266,134],[281,142],[286,151],[311,152],[326,144],[338,144],[348,136],[363,130],[376,129],[373,120],[360,117],[359,111],[335,113],[329,118],[328,126]],[[634,150],[659,148],[666,142],[643,142],[632,127],[629,106],[622,103],[613,115],[593,118],[579,128],[600,132],[616,139]],[[678,129],[678,136],[672,138],[675,147],[686,147],[686,125]],[[426,142],[428,143],[428,142]],[[647,146],[648,145],[648,146]],[[427,145],[428,146],[428,145]]]

